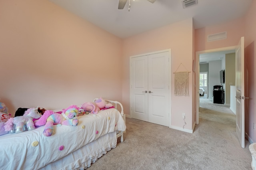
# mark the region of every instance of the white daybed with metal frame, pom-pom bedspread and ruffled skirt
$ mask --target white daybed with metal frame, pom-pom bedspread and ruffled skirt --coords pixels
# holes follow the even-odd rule
[[[52,136],[42,134],[44,126],[18,134],[0,136],[0,169],[86,169],[108,150],[116,147],[117,138],[126,130],[121,113],[113,108],[98,114],[79,116],[77,126],[54,125]],[[35,146],[36,142],[38,145]],[[63,148],[61,150],[60,148]]]

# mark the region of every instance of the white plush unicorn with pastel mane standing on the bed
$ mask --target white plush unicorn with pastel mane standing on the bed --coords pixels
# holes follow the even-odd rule
[[[25,111],[23,116],[10,118],[6,123],[4,123],[5,131],[9,133],[20,133],[25,130],[33,130],[36,128],[34,126],[33,119],[38,119],[41,116],[42,115],[38,112],[38,107],[30,108]]]

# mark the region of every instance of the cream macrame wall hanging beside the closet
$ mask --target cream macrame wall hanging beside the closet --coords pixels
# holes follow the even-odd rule
[[[180,65],[183,65],[180,63]],[[180,67],[179,65],[179,67]],[[178,68],[179,68],[178,67]],[[183,67],[186,69],[186,67],[183,65]],[[178,70],[177,68],[177,70]],[[190,71],[186,69],[186,71],[175,71],[174,72],[174,95],[176,96],[189,96],[189,74]]]

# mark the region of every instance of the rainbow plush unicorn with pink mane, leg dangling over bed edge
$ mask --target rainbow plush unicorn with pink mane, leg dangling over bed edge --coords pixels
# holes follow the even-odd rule
[[[77,115],[80,108],[76,105],[71,105],[67,109],[63,109],[62,113],[56,113],[51,110],[46,110],[44,115],[38,121],[36,121],[36,127],[44,126],[43,135],[52,136],[53,125],[61,124],[68,126],[78,125]]]

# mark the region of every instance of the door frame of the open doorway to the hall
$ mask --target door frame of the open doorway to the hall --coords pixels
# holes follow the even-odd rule
[[[228,50],[236,50],[236,45],[229,46],[229,47],[222,47],[222,48],[215,48],[215,49],[208,49],[203,51],[196,51],[196,125],[199,124],[199,74],[200,74],[200,62],[199,62],[199,55],[203,53],[213,53],[218,51],[228,51]]]

